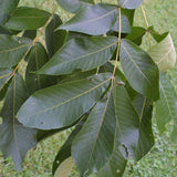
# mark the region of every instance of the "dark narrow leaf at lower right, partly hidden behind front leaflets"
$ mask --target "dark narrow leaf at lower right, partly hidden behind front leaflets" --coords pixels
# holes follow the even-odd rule
[[[152,129],[153,103],[138,94],[134,100],[134,106],[139,115],[140,127],[139,137],[136,148],[136,160],[144,157],[154,145],[154,136]]]

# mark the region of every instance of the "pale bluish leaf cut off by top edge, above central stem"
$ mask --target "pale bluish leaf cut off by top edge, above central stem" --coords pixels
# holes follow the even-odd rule
[[[124,9],[136,9],[144,0],[118,0],[118,4]]]

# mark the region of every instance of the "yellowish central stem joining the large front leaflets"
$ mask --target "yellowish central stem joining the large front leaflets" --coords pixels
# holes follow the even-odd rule
[[[112,80],[114,80],[114,76],[115,76],[115,71],[116,71],[117,63],[118,63],[119,46],[121,46],[121,30],[122,30],[121,8],[118,8],[118,17],[119,17],[118,42],[117,42],[117,52],[116,52],[116,59],[115,59],[115,65],[114,65],[114,70],[113,70]]]

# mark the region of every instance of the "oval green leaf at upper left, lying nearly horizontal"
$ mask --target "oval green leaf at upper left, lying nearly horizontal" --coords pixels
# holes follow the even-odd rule
[[[37,8],[21,7],[15,9],[6,27],[11,30],[37,30],[45,24],[50,13]]]

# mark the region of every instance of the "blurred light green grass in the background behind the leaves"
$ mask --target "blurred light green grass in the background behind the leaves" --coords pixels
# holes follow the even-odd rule
[[[42,4],[43,0],[21,0],[20,4],[41,7],[44,10],[50,10],[58,6],[54,0],[48,0]],[[108,0],[107,0],[108,1]],[[112,0],[113,2],[113,0]],[[177,49],[177,20],[176,0],[146,0],[145,10],[150,25],[155,25],[155,29],[159,32],[170,31],[175,46]],[[58,13],[62,17],[62,20],[66,20],[71,17],[64,10],[58,10]],[[135,25],[145,27],[140,8],[137,9],[135,15]],[[143,44],[144,49],[147,49],[147,40]],[[171,81],[177,85],[177,69],[169,72]],[[155,146],[152,150],[138,163],[129,162],[125,171],[125,177],[176,177],[177,176],[177,145],[174,145],[169,139],[170,125],[168,132],[160,135],[157,131],[154,122]],[[37,149],[31,149],[24,160],[24,167],[21,173],[13,170],[13,164],[11,158],[3,159],[0,154],[0,177],[51,177],[52,162],[67,137],[67,132],[54,135],[42,143],[40,143]],[[77,177],[76,169],[72,171],[71,177]]]

